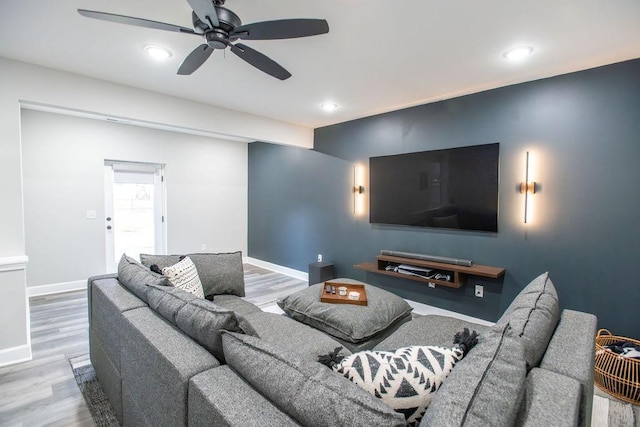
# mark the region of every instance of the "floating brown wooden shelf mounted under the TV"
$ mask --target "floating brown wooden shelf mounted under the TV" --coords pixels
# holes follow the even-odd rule
[[[372,273],[384,274],[386,276],[400,277],[406,280],[414,280],[416,282],[433,283],[435,285],[447,286],[450,288],[459,288],[467,282],[468,276],[488,277],[491,279],[497,279],[504,275],[505,269],[501,267],[491,267],[488,265],[473,264],[471,267],[464,265],[445,264],[441,262],[423,261],[413,258],[402,258],[390,255],[378,255],[376,257],[377,262],[363,262],[354,265],[355,268],[364,271],[370,271]],[[397,273],[392,270],[387,270],[389,265],[411,265],[415,267],[429,268],[436,270],[437,273],[448,274],[451,277],[450,281],[427,279],[419,276],[412,276],[402,273]]]

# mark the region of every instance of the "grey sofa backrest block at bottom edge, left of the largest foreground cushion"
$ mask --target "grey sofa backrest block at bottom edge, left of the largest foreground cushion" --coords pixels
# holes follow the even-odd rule
[[[188,425],[299,426],[238,376],[229,365],[195,375],[189,381]]]

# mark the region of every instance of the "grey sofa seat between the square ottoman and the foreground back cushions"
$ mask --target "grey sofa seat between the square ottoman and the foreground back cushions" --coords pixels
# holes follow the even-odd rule
[[[340,347],[340,343],[329,335],[280,314],[249,314],[242,317],[240,326],[246,333],[251,331],[251,335],[258,336],[278,349],[286,353],[298,353],[312,362],[318,359],[318,355]],[[343,350],[342,354],[351,352]]]

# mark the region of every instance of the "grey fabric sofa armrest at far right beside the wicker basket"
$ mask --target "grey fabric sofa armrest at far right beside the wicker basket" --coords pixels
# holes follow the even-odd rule
[[[593,314],[564,310],[540,362],[541,368],[580,382],[580,426],[591,425],[596,329]]]

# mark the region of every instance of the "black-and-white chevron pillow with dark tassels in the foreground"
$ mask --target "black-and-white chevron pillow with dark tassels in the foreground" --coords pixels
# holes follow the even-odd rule
[[[458,348],[411,346],[396,351],[361,351],[332,369],[418,425],[435,392],[464,357]]]

